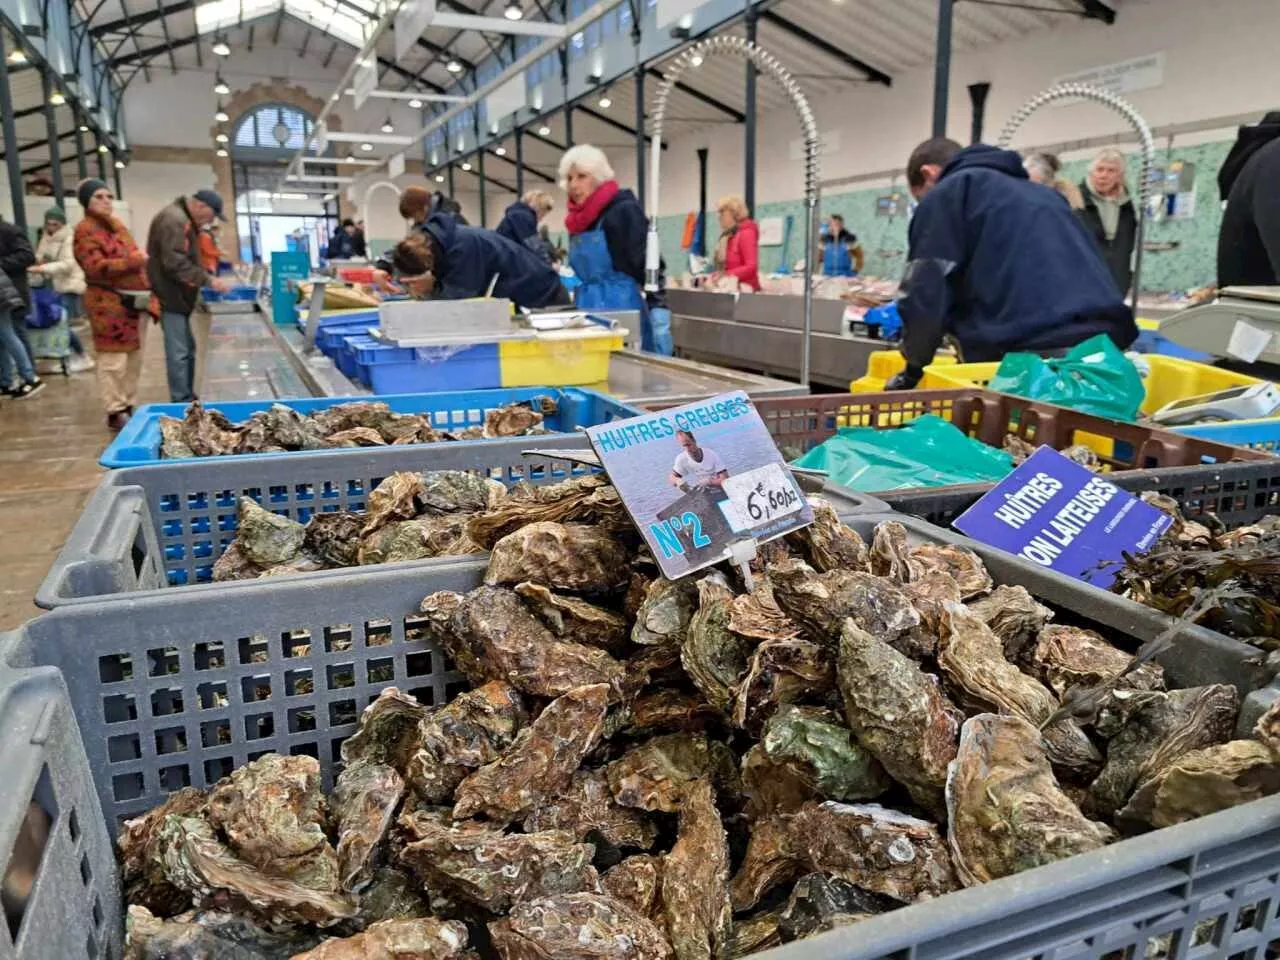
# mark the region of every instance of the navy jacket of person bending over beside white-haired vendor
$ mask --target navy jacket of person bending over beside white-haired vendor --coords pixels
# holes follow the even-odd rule
[[[559,274],[520,243],[460,224],[444,211],[431,214],[421,229],[440,247],[442,262],[435,264],[434,273],[444,300],[483,297],[497,274],[494,296],[516,306],[547,307],[567,301]]]

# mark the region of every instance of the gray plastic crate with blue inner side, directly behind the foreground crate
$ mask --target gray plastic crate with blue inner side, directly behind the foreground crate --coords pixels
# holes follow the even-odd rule
[[[294,453],[289,457],[210,457],[115,470],[88,499],[54,566],[36,593],[36,605],[137,595],[140,591],[207,584],[214,562],[236,538],[242,495],[306,522],[316,512],[362,511],[369,492],[398,470],[471,470],[506,484],[548,484],[589,472],[568,461],[529,458],[521,451],[581,451],[581,434],[503,440]],[[886,511],[874,497],[831,486],[841,515]],[[413,561],[413,566],[457,558]],[[361,567],[371,573],[380,567]],[[291,575],[326,580],[355,568]],[[252,581],[248,581],[252,582]],[[238,582],[237,586],[248,586]],[[204,588],[198,588],[204,589]]]

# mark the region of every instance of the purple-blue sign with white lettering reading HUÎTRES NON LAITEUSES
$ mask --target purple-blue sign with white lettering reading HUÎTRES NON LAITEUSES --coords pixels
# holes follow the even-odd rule
[[[1041,447],[960,515],[955,527],[1032,563],[1107,588],[1121,554],[1151,549],[1172,522],[1105,475]]]

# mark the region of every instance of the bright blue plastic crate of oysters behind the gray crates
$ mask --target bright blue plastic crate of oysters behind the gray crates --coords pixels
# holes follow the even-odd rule
[[[544,398],[556,401],[557,411],[547,417],[545,424],[548,430],[557,433],[573,433],[580,426],[607,424],[611,420],[634,417],[641,412],[613,397],[581,387],[509,387],[498,390],[396,393],[374,397],[305,397],[278,399],[274,402],[283,403],[300,413],[315,413],[339,403],[378,401],[385,403],[397,413],[429,413],[431,416],[431,425],[439,430],[462,430],[467,426],[483,426],[485,413],[490,410],[497,410],[508,403],[522,403]],[[223,413],[232,422],[239,422],[247,420],[252,413],[270,410],[271,403],[271,401],[232,401],[228,403],[210,403],[207,406],[210,410]],[[142,463],[179,462],[160,458],[160,417],[169,416],[180,420],[186,411],[186,403],[147,403],[143,407],[138,407],[124,429],[116,434],[111,445],[102,452],[99,463],[104,467],[118,468],[140,466]],[[458,442],[452,440],[449,443]],[[466,443],[466,440],[461,443]],[[425,445],[430,444],[417,444],[417,447]],[[343,451],[311,451],[311,453],[340,454]],[[243,453],[236,458],[292,456],[298,454],[292,451],[278,451],[274,453]],[[192,460],[205,458],[182,458],[180,462],[189,463]],[[227,460],[227,457],[221,457],[220,460]]]

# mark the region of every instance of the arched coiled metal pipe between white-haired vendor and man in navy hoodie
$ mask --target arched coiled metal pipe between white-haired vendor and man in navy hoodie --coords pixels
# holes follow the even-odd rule
[[[800,383],[809,383],[809,335],[813,332],[813,244],[814,212],[818,207],[818,122],[809,108],[809,100],[791,72],[771,52],[741,37],[708,37],[686,49],[673,63],[663,67],[666,77],[658,84],[653,104],[653,143],[649,150],[649,236],[645,244],[645,285],[650,293],[658,291],[658,264],[660,246],[658,242],[658,200],[660,189],[659,168],[662,163],[662,125],[667,115],[667,100],[676,81],[696,60],[701,63],[708,56],[732,54],[750,60],[760,73],[772,77],[791,100],[800,116],[800,129],[804,133],[804,200],[805,200],[805,257],[804,257],[804,333],[800,352]]]

